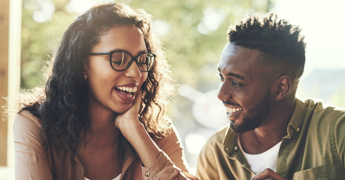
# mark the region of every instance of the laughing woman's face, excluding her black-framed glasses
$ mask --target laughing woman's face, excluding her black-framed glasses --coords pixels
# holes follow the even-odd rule
[[[104,34],[91,53],[123,51],[136,57],[147,52],[144,36],[136,26],[114,26]],[[132,106],[135,95],[147,78],[147,72],[141,72],[134,60],[125,71],[112,69],[109,55],[88,56],[84,73],[89,81],[90,106],[118,113],[126,112]],[[132,92],[134,90],[136,92]]]

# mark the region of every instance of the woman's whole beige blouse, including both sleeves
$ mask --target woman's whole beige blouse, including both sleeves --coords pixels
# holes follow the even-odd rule
[[[77,156],[46,149],[40,138],[41,123],[29,111],[17,114],[13,124],[16,180],[83,180],[84,169]],[[183,146],[175,127],[169,137],[154,138],[162,150],[149,168],[141,166],[129,148],[122,164],[121,180],[197,179],[188,173]]]

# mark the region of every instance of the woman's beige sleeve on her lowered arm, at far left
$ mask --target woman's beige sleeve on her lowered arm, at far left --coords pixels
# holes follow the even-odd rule
[[[16,180],[53,180],[47,151],[40,138],[40,127],[38,121],[35,122],[21,113],[14,119]]]

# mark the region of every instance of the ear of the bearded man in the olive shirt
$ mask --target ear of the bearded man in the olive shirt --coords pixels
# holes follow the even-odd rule
[[[281,76],[272,85],[271,90],[273,91],[272,94],[274,94],[272,98],[276,101],[280,101],[284,99],[291,89],[291,78],[287,75]]]

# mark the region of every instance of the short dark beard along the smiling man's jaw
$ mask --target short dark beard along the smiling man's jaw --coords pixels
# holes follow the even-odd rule
[[[267,88],[264,99],[261,100],[261,102],[255,107],[249,109],[247,114],[243,114],[242,123],[234,124],[234,121],[231,121],[230,128],[237,133],[251,131],[258,128],[260,124],[265,120],[271,109],[270,101],[270,88]]]

